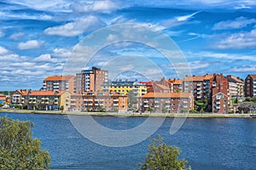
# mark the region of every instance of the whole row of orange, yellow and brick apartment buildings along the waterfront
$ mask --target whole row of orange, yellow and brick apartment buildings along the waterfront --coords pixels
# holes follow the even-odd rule
[[[11,103],[40,110],[59,110],[63,106],[65,111],[127,111],[131,92],[136,98],[133,106],[141,112],[189,111],[194,109],[195,100],[207,100],[212,113],[227,113],[232,99],[256,95],[256,76],[248,75],[245,82],[223,74],[110,82],[108,71],[92,67],[74,76],[46,77],[40,91],[16,90]]]

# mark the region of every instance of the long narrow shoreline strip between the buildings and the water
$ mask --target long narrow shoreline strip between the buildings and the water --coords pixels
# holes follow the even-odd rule
[[[31,111],[18,109],[0,109],[0,113],[73,115],[73,116],[142,116],[142,117],[180,117],[180,118],[252,118],[252,114],[212,114],[212,113],[117,113],[117,112],[85,112],[85,111]]]

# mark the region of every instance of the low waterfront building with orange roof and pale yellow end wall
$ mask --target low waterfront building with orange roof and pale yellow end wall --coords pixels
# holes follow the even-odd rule
[[[28,110],[56,111],[61,105],[64,111],[70,106],[70,93],[67,91],[30,91],[23,95],[22,105],[27,105]]]

